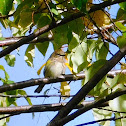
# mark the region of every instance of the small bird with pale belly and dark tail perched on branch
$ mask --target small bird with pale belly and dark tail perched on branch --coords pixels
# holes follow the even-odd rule
[[[57,78],[65,74],[65,70],[65,52],[62,49],[55,50],[45,64],[44,76]],[[39,85],[35,92],[40,93],[43,87],[44,85]]]

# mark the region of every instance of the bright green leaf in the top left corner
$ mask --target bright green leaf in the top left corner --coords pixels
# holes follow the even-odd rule
[[[2,15],[8,15],[12,9],[13,0],[0,0],[0,13]]]

